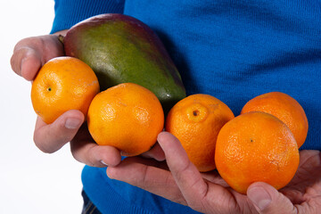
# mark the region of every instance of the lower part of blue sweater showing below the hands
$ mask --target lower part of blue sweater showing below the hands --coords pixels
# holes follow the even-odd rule
[[[106,179],[106,169],[86,166],[82,173],[84,190],[103,214],[195,214],[194,210],[136,186]]]

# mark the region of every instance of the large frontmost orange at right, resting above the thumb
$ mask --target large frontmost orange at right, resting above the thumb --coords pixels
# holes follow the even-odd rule
[[[259,111],[231,119],[218,133],[215,162],[219,175],[239,193],[253,182],[280,189],[299,166],[291,130],[275,116]]]

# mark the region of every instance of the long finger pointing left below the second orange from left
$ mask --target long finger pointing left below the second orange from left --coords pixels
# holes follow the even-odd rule
[[[117,167],[109,167],[107,176],[135,185],[172,202],[187,205],[171,173],[166,169],[151,166],[150,161],[138,157],[126,158]]]

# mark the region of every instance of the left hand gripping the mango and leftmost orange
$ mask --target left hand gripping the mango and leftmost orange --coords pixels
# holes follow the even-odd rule
[[[66,31],[57,34],[64,35]],[[24,38],[15,45],[12,70],[27,80],[33,80],[37,71],[54,57],[64,55],[63,45],[57,35]],[[105,167],[119,164],[119,151],[111,146],[98,146],[90,137],[85,117],[81,111],[71,110],[62,114],[52,124],[37,118],[34,141],[43,152],[56,152],[70,142],[76,160],[90,166]],[[80,128],[81,127],[81,128]]]

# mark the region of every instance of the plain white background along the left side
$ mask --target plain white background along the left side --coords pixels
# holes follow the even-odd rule
[[[53,0],[0,1],[0,213],[80,213],[81,169],[66,144],[53,154],[33,143],[31,84],[10,66],[23,37],[48,34]]]

